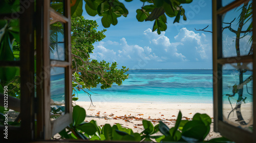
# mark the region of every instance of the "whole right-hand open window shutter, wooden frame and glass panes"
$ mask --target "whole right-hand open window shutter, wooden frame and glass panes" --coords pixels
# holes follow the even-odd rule
[[[256,5],[244,0],[226,3],[212,1],[214,130],[235,142],[255,142]]]

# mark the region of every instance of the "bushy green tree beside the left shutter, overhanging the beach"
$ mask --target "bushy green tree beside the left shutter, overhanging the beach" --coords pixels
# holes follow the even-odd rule
[[[75,93],[83,89],[91,89],[100,85],[101,89],[111,88],[113,83],[118,85],[128,78],[125,74],[126,67],[117,69],[117,63],[112,64],[103,61],[91,60],[93,43],[105,38],[106,30],[97,31],[97,23],[86,20],[83,16],[75,17],[72,21],[72,66],[73,66],[73,90]],[[86,91],[84,91],[86,92]],[[88,93],[88,92],[86,92]],[[89,93],[88,93],[89,94]],[[89,94],[90,95],[90,94]],[[73,100],[77,100],[76,97]]]

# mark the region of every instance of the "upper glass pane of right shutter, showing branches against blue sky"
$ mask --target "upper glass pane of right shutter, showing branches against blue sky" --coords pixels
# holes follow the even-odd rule
[[[223,57],[252,54],[252,1],[223,15]]]

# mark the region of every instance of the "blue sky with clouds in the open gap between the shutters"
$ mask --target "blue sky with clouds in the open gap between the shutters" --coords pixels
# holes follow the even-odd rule
[[[106,38],[94,44],[92,59],[117,62],[118,68],[130,69],[212,69],[211,33],[196,31],[207,25],[211,31],[211,1],[194,0],[183,4],[187,21],[173,24],[174,18],[167,17],[167,30],[158,35],[152,32],[154,22],[138,22],[136,10],[143,3],[138,0],[122,2],[129,10],[127,17],[119,17],[117,25],[106,28]],[[83,7],[84,8],[84,7]],[[96,20],[102,30],[101,17]]]

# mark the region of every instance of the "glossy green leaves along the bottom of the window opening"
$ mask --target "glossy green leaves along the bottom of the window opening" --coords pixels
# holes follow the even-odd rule
[[[82,116],[80,116],[82,115]],[[132,129],[123,128],[120,124],[105,124],[102,128],[97,122],[83,122],[86,118],[86,111],[75,106],[73,110],[73,123],[62,130],[59,134],[62,139],[87,139],[87,140],[123,140],[123,141],[144,141],[154,139],[157,142],[181,141],[181,142],[202,142],[209,133],[211,119],[206,114],[196,113],[193,120],[181,120],[179,112],[175,127],[168,128],[163,122],[154,126],[150,121],[143,120],[144,130],[141,133],[134,133]],[[77,122],[79,121],[79,122]],[[154,135],[156,133],[162,135]],[[214,138],[204,142],[231,142],[226,138]]]

